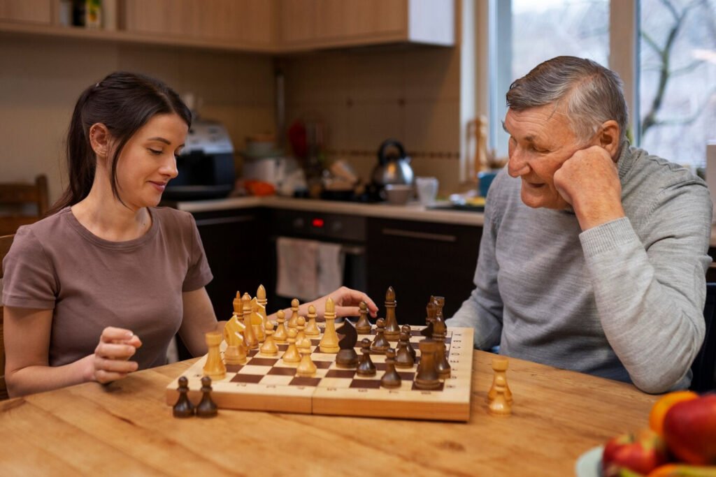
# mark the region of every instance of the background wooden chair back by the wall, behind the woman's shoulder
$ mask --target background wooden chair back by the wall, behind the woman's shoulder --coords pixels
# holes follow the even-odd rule
[[[34,204],[37,208],[35,215],[26,215],[21,207]],[[4,215],[3,210],[11,208],[10,215]],[[6,182],[0,184],[0,235],[14,234],[20,225],[32,224],[40,220],[47,212],[49,199],[47,195],[47,176],[40,174],[34,184],[21,184]]]

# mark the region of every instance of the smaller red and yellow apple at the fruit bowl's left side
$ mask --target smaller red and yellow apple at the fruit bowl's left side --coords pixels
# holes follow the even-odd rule
[[[604,477],[619,476],[622,469],[647,474],[667,461],[667,449],[651,429],[611,438],[604,446],[601,468]]]

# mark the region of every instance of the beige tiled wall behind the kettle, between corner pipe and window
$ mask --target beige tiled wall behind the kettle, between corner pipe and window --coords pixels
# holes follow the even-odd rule
[[[417,175],[458,187],[460,54],[457,48],[324,51],[282,60],[286,119],[326,127],[329,158],[347,159],[368,180],[379,144],[398,139]]]

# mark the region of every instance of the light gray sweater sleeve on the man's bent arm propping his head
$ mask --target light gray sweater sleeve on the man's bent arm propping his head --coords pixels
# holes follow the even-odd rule
[[[647,393],[688,380],[705,334],[712,206],[702,185],[676,189],[654,199],[642,237],[627,217],[579,237],[606,338]]]

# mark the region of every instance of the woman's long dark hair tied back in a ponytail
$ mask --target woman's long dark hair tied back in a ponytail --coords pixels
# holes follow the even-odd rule
[[[115,72],[93,84],[77,99],[67,132],[69,185],[47,215],[87,197],[95,181],[95,152],[89,143],[92,124],[105,124],[115,144],[110,164],[112,193],[117,190],[117,158],[137,129],[156,114],[178,114],[191,126],[191,112],[179,95],[158,79],[143,74]]]

